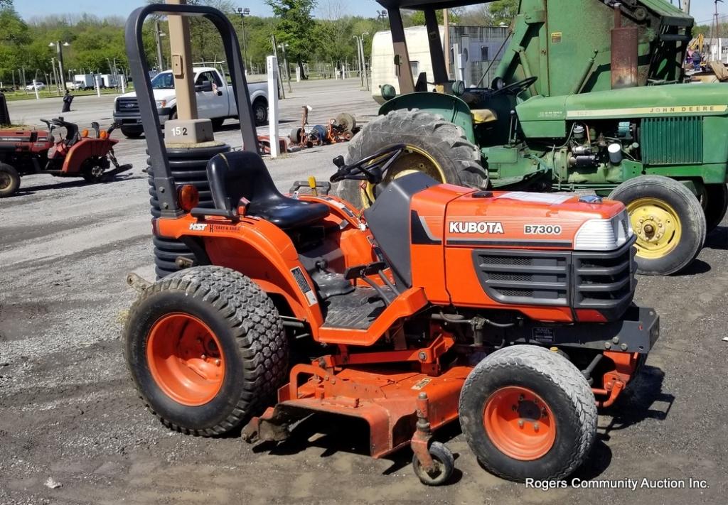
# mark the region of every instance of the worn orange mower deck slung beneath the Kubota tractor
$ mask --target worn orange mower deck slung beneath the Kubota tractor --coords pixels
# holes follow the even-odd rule
[[[417,399],[427,391],[431,429],[454,421],[460,390],[472,367],[456,366],[442,375],[377,367],[347,367],[329,373],[318,365],[296,365],[291,382],[278,391],[279,403],[245,427],[249,442],[280,441],[289,426],[312,412],[360,418],[369,425],[369,449],[381,458],[410,444],[417,423]],[[296,386],[299,375],[311,378]]]

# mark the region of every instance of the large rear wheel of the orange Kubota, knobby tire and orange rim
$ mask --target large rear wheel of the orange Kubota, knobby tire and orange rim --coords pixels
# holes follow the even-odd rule
[[[198,266],[149,286],[124,328],[127,365],[151,413],[194,435],[229,432],[274,401],[288,340],[266,293],[240,272]]]

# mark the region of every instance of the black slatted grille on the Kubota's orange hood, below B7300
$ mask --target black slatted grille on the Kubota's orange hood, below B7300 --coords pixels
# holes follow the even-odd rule
[[[636,285],[634,239],[614,251],[476,249],[480,285],[496,301],[622,314]]]

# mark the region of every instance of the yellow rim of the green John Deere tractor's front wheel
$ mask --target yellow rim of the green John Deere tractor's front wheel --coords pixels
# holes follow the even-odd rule
[[[627,212],[637,236],[639,257],[663,258],[680,243],[680,218],[666,202],[657,198],[638,198],[627,204]]]

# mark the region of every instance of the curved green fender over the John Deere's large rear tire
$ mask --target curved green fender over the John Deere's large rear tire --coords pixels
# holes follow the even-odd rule
[[[461,127],[467,140],[475,143],[475,130],[472,127],[470,107],[460,98],[453,95],[444,95],[435,92],[416,92],[400,95],[388,100],[379,108],[379,115],[384,116],[390,111],[406,109],[409,111],[419,109],[437,114],[445,121]]]

